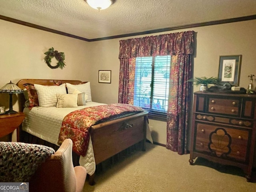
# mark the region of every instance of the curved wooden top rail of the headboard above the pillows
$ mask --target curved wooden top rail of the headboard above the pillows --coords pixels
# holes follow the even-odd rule
[[[53,79],[22,79],[19,80],[17,86],[21,89],[24,89],[24,84],[40,84],[40,85],[55,85],[55,84],[79,84],[82,83],[80,80],[53,80]]]

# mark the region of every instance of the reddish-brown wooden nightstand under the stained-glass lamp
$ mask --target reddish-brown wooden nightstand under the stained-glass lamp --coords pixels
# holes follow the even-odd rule
[[[25,118],[25,114],[22,112],[16,114],[2,114],[0,115],[0,138],[12,133],[17,129]],[[17,131],[17,142],[19,142],[20,131]]]

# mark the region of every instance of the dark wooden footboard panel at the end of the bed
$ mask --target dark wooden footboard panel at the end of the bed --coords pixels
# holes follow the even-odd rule
[[[146,114],[142,112],[130,117],[105,122],[90,128],[96,164],[110,158],[122,150],[146,140]],[[114,123],[114,124],[113,124]],[[145,150],[145,146],[143,147]]]

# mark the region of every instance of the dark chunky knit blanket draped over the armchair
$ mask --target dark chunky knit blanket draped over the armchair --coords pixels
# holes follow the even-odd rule
[[[0,182],[29,182],[54,149],[22,142],[0,142]]]

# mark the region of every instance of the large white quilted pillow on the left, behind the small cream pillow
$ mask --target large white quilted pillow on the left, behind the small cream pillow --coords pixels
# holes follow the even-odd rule
[[[57,94],[66,94],[66,86],[44,86],[34,84],[38,95],[38,102],[40,107],[54,107],[57,104]]]

